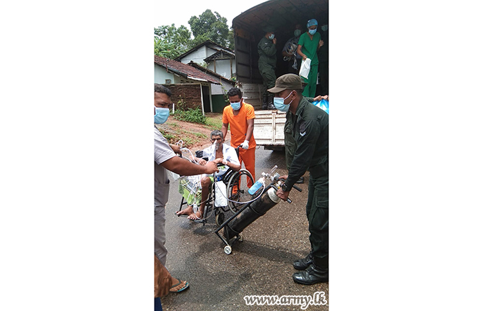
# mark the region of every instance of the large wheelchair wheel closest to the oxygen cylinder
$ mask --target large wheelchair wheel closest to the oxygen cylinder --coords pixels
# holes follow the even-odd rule
[[[233,213],[239,211],[240,208],[252,199],[252,196],[248,194],[248,180],[250,185],[253,185],[253,177],[246,169],[240,169],[233,173],[226,185],[226,194],[228,198],[228,207]]]

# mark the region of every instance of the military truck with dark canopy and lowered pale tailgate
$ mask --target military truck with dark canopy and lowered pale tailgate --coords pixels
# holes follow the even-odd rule
[[[319,26],[328,24],[328,0],[270,0],[242,12],[233,19],[237,82],[246,102],[255,108],[253,135],[265,149],[284,148],[285,113],[262,111],[262,75],[258,70],[257,45],[265,35],[264,28],[273,26],[277,38],[277,77],[290,72],[293,62],[284,61],[282,49],[293,37],[295,25],[306,31],[309,19],[317,19]],[[319,30],[320,31],[320,28]]]

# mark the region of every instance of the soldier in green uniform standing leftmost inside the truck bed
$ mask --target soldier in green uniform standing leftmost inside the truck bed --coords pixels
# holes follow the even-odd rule
[[[264,97],[262,109],[275,109],[273,106],[273,95],[267,92],[268,88],[275,86],[275,67],[277,66],[277,39],[275,38],[275,29],[266,27],[265,35],[258,43],[258,70],[264,80]]]

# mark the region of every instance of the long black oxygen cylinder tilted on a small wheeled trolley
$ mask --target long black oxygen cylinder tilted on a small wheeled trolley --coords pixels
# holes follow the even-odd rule
[[[277,192],[270,187],[260,198],[251,202],[242,213],[233,218],[230,223],[226,224],[223,231],[226,241],[242,233],[250,223],[253,223],[260,216],[265,215],[278,202],[280,202],[280,198],[277,196]]]

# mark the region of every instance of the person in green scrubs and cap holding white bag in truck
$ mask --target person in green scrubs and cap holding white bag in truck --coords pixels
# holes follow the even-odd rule
[[[308,73],[308,79],[302,77],[302,82],[308,84],[302,93],[305,97],[315,97],[315,89],[317,88],[317,73],[319,70],[317,51],[324,45],[320,33],[317,32],[317,25],[317,19],[310,19],[307,22],[308,30],[300,36],[297,48],[297,53],[302,56],[302,60],[311,59],[311,71]]]

